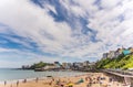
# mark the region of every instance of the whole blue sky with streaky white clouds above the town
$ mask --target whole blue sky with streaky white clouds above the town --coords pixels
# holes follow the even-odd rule
[[[0,67],[95,62],[133,46],[133,0],[0,0]]]

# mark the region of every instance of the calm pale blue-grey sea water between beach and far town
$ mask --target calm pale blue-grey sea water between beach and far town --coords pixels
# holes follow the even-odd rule
[[[0,81],[11,81],[11,80],[20,80],[20,79],[32,79],[32,78],[41,78],[47,76],[75,76],[83,75],[86,73],[82,72],[34,72],[34,70],[21,70],[21,69],[0,69]]]

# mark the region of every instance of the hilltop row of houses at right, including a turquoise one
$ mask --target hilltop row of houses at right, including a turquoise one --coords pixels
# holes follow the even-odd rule
[[[129,48],[117,48],[116,51],[110,51],[109,53],[103,53],[102,58],[116,58],[119,55],[133,54],[133,47]]]

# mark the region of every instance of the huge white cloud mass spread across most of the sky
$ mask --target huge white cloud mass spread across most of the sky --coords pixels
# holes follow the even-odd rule
[[[96,32],[95,40],[100,42],[91,41],[93,33],[85,35],[81,32],[83,24],[79,19],[73,21],[75,29],[65,21],[55,22],[48,11],[51,10],[57,15],[58,12],[49,3],[41,9],[30,0],[2,0],[0,22],[11,28],[10,31],[13,33],[35,42],[41,51],[61,57],[100,57],[102,52],[115,50],[117,45],[125,47],[132,45],[133,0],[101,0],[100,6],[94,4],[95,0],[76,0],[74,3],[70,0],[60,0],[60,2],[70,17],[72,14],[73,18],[84,18],[88,21],[86,26]],[[0,28],[0,32],[7,31]],[[78,35],[73,36],[74,34]],[[27,42],[20,43],[29,46]],[[106,47],[106,44],[110,46]]]

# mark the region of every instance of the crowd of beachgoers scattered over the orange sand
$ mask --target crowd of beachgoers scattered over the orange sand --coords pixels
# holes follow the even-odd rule
[[[34,79],[34,83],[40,83],[40,79],[37,77]],[[23,79],[23,84],[25,84],[28,80]],[[113,78],[111,76],[105,76],[101,74],[89,74],[84,76],[75,76],[75,77],[64,77],[64,78],[53,78],[50,77],[48,79],[43,79],[43,84],[48,84],[49,87],[113,87],[114,81],[116,81],[116,78]],[[7,81],[4,81],[4,86],[7,85]],[[20,81],[18,80],[16,83],[16,87],[19,87]],[[9,87],[9,86],[8,86]],[[10,85],[12,87],[12,84]],[[119,85],[116,87],[120,87]]]

